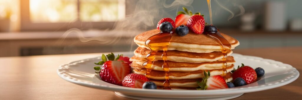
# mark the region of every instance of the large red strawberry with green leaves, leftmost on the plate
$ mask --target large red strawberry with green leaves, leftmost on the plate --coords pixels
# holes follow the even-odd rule
[[[96,73],[100,74],[100,77],[103,81],[122,86],[124,77],[127,74],[130,74],[129,63],[117,61],[120,58],[120,55],[118,55],[117,58],[114,57],[113,53],[106,56],[103,54],[102,61],[95,63],[96,65],[102,65],[102,68],[99,66],[94,67],[94,69],[97,71],[101,70]]]

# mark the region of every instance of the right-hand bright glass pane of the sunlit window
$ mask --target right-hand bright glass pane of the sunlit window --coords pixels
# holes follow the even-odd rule
[[[80,19],[82,21],[116,21],[124,16],[124,0],[80,0]]]

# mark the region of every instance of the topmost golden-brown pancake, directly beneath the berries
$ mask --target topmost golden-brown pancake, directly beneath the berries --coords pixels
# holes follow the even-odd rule
[[[149,47],[145,45],[145,41],[152,35],[156,35],[159,32],[160,31],[157,29],[143,32],[134,37],[134,42],[140,47],[149,49]],[[239,41],[237,41],[236,39],[223,33],[221,33],[221,35],[230,42],[230,44],[232,45],[231,49],[234,49],[239,45]],[[168,50],[178,50],[194,53],[210,53],[213,51],[221,51],[221,46],[214,39],[207,35],[195,34],[189,31],[189,33],[185,36],[173,34]]]

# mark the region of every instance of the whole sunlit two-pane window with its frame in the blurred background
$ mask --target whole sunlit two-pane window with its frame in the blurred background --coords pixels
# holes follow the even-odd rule
[[[20,0],[21,30],[107,29],[125,17],[125,0]]]

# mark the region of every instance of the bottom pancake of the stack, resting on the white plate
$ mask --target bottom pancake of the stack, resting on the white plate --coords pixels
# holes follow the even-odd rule
[[[169,80],[170,87],[185,87],[185,88],[196,88],[198,87],[197,82],[201,82],[202,79],[182,79],[182,80]],[[232,81],[232,73],[227,73],[225,81],[230,82]],[[163,86],[165,80],[150,80],[156,84],[156,86]]]

